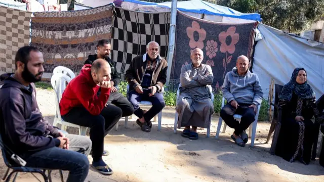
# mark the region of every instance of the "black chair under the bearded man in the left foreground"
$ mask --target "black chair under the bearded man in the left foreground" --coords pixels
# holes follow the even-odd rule
[[[25,167],[26,162],[22,158],[20,158],[18,155],[16,155],[14,152],[12,152],[3,143],[1,136],[0,136],[0,148],[2,151],[3,158],[4,158],[4,162],[5,162],[6,166],[8,167],[8,169],[5,173],[5,176],[2,178],[3,180],[6,180],[6,182],[10,181],[10,179],[14,173],[16,173],[16,174],[13,178],[13,181],[16,181],[18,172],[30,172],[36,179],[38,179],[38,178],[33,173],[39,173],[43,176],[45,182],[52,182],[52,178],[51,178],[52,170],[39,169],[39,168],[33,168],[33,167]],[[10,156],[9,160],[7,158],[8,156]],[[10,169],[13,169],[13,170],[9,173]],[[47,175],[46,175],[46,171],[48,171]],[[61,176],[61,181],[64,182],[62,170],[59,170],[59,172],[60,172],[60,176]],[[9,175],[8,175],[8,173],[9,173]],[[41,181],[41,180],[39,180],[39,181]]]

